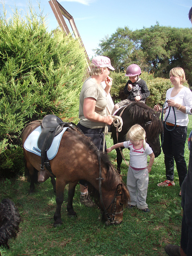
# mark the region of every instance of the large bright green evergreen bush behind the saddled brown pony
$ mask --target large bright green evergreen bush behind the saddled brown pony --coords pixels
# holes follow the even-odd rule
[[[78,40],[48,32],[32,7],[24,17],[17,9],[9,20],[0,14],[0,177],[24,169],[16,140],[27,123],[47,114],[78,121],[86,66]]]

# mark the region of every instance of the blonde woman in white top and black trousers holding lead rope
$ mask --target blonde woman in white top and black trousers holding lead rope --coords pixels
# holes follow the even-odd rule
[[[187,166],[184,158],[185,142],[187,137],[188,114],[191,115],[192,92],[183,83],[186,82],[184,70],[180,67],[172,68],[169,72],[170,81],[174,87],[166,92],[164,110],[164,139],[162,150],[166,169],[166,180],[158,186],[174,186],[174,160],[178,171],[179,185],[181,187],[187,175]],[[154,110],[161,110],[155,105]],[[170,113],[169,113],[170,111]],[[174,117],[176,114],[176,120]],[[174,124],[176,121],[176,127]],[[174,128],[174,129],[173,129]],[[179,193],[181,195],[181,192]]]

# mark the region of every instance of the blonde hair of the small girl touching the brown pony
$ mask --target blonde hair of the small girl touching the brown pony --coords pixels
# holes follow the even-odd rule
[[[146,147],[146,132],[140,124],[134,124],[126,134],[126,140],[143,140],[143,148]]]

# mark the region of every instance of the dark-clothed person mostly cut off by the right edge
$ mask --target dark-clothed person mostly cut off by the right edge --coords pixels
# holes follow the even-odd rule
[[[189,11],[189,20],[192,23],[192,7]],[[190,111],[192,112],[192,109]],[[188,174],[182,183],[181,194],[183,208],[181,241],[180,246],[175,244],[165,246],[165,251],[170,256],[192,256],[192,143],[190,143]]]

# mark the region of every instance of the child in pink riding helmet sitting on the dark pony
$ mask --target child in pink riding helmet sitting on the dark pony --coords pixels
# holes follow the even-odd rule
[[[126,100],[122,100],[115,104],[111,113],[112,115],[118,108],[127,105],[132,101],[145,102],[145,99],[150,95],[146,82],[139,78],[140,75],[141,69],[138,65],[131,64],[128,66],[125,76],[128,76],[129,80],[124,88],[124,94],[128,95],[128,97]]]

